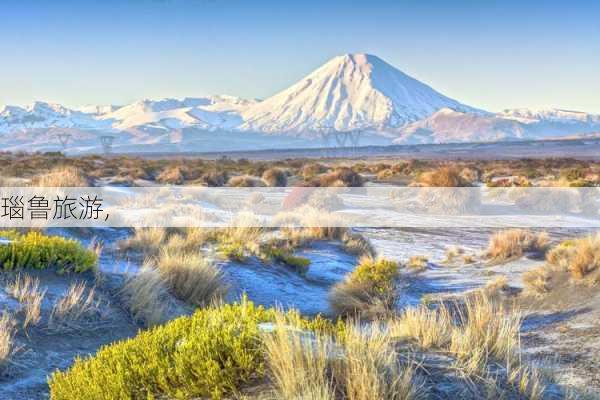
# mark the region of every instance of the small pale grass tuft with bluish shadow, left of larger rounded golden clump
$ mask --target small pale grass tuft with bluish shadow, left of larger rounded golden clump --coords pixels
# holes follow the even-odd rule
[[[152,327],[165,320],[166,291],[160,273],[145,263],[133,277],[127,279],[120,296],[134,321]]]

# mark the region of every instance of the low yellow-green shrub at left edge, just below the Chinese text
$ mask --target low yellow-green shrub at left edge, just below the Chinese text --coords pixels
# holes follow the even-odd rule
[[[56,268],[59,272],[83,272],[96,266],[98,256],[76,240],[46,236],[30,231],[0,231],[0,237],[11,240],[0,245],[0,266],[4,270],[19,268]]]

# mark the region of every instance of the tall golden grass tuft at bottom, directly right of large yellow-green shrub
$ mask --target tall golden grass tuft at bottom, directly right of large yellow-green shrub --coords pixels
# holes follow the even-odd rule
[[[264,337],[264,346],[277,399],[335,399],[327,374],[331,339],[296,331],[278,313],[273,333]]]

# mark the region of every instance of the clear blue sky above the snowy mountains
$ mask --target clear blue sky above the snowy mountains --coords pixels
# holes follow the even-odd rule
[[[0,104],[264,98],[367,52],[476,107],[600,113],[599,4],[0,0]]]

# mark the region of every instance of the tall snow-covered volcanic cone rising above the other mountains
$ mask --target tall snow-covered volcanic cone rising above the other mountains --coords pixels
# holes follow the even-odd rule
[[[288,89],[241,112],[242,130],[304,132],[401,127],[452,100],[369,54],[335,57]]]

